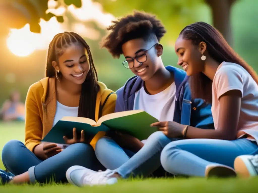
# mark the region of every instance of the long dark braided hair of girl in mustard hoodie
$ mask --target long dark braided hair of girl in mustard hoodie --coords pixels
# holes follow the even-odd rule
[[[47,52],[46,77],[60,78],[61,73],[57,73],[52,66],[53,61],[58,61],[58,57],[63,54],[64,48],[73,43],[82,45],[87,50],[87,59],[90,64],[90,71],[86,80],[82,84],[80,95],[78,117],[86,117],[95,120],[96,96],[99,91],[98,76],[93,63],[90,47],[86,41],[74,32],[63,32],[55,35],[49,44]]]

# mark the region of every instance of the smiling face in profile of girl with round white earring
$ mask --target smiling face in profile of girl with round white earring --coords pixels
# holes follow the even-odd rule
[[[175,52],[178,56],[178,65],[182,66],[188,76],[192,76],[204,69],[201,60],[202,45],[193,45],[191,40],[184,39],[182,35],[175,42]]]

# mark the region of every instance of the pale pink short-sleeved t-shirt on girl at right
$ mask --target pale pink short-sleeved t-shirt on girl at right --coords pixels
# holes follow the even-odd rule
[[[258,86],[252,76],[240,65],[223,62],[212,83],[212,117],[215,129],[219,123],[219,97],[230,90],[242,93],[238,131],[258,127]]]

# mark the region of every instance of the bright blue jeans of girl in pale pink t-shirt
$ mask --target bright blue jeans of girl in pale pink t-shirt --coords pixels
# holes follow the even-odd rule
[[[167,144],[160,156],[163,168],[174,175],[205,176],[209,164],[233,168],[239,155],[258,153],[256,142],[248,139],[185,139]]]

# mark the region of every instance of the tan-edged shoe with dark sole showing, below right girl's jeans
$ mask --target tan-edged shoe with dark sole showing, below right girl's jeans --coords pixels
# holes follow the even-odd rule
[[[228,178],[228,177],[236,177],[237,174],[235,170],[229,166],[220,165],[220,164],[211,164],[206,166],[205,176],[207,178],[210,178],[210,177]]]

